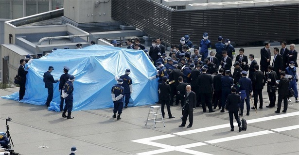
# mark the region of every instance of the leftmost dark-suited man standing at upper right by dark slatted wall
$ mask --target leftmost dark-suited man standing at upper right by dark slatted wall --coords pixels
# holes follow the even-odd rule
[[[270,65],[271,61],[271,52],[270,52],[270,44],[265,43],[265,47],[261,49],[261,71],[265,74],[267,72],[267,67]]]

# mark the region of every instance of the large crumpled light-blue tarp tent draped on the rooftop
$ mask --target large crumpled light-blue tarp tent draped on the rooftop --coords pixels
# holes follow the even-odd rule
[[[115,76],[120,77],[126,68],[131,69],[133,93],[129,106],[153,104],[158,101],[156,67],[142,50],[92,45],[83,49],[57,49],[48,56],[32,60],[26,81],[24,99],[20,102],[45,105],[48,90],[43,82],[43,74],[49,66],[54,79],[63,74],[63,66],[70,68],[75,76],[73,111],[105,109],[113,107],[111,88],[116,84]],[[60,92],[54,83],[53,100],[49,110],[60,111]],[[18,92],[1,98],[18,100]]]

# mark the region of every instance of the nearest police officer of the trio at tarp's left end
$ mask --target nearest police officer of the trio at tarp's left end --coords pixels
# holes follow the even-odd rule
[[[67,117],[66,112],[68,110],[67,119],[73,119],[73,117],[71,117],[70,115],[71,115],[71,109],[72,109],[72,104],[73,104],[72,92],[74,91],[74,85],[73,85],[74,80],[75,80],[75,77],[73,75],[71,75],[69,80],[64,84],[64,86],[62,88],[64,90],[64,93],[67,94],[67,97],[65,97],[66,106],[63,109],[62,117]]]

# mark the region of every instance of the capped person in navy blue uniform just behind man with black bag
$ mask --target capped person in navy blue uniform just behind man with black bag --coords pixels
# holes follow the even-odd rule
[[[249,111],[250,111],[250,96],[252,93],[252,82],[249,78],[246,78],[247,72],[242,71],[242,78],[239,80],[239,85],[240,85],[240,92],[241,93],[246,93],[245,98],[241,98],[241,105],[240,105],[240,115],[243,116],[243,109],[244,109],[244,101],[246,101],[246,110],[247,113],[246,115],[249,116]],[[243,91],[243,92],[242,92]]]

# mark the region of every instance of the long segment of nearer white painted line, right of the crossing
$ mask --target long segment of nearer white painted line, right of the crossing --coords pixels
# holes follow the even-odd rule
[[[218,142],[244,139],[244,138],[248,138],[248,137],[260,136],[260,135],[265,135],[265,134],[270,134],[270,133],[274,133],[274,132],[265,130],[265,131],[253,132],[253,133],[237,135],[237,136],[231,136],[231,137],[226,137],[226,138],[221,138],[221,139],[216,139],[216,140],[208,140],[208,141],[205,141],[205,142],[210,143],[210,144],[214,144],[214,143],[218,143]]]

